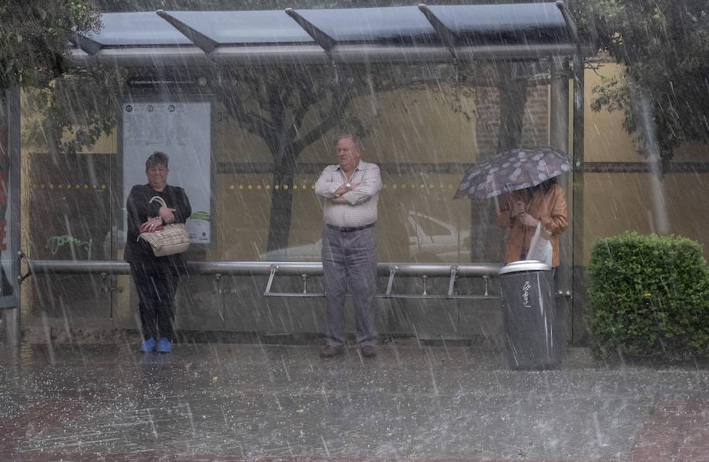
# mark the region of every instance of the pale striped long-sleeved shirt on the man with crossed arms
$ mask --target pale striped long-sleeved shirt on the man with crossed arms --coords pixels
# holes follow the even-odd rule
[[[335,191],[347,184],[345,172],[339,165],[328,165],[320,174],[315,184],[315,192],[326,199],[323,207],[325,223],[340,227],[357,227],[376,222],[376,202],[381,189],[381,174],[376,164],[359,161],[354,169],[350,183],[357,184],[352,191],[342,194],[347,201],[337,204],[330,201],[335,198]]]

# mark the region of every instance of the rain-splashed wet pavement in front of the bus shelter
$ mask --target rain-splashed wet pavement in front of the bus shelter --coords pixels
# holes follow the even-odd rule
[[[709,461],[709,368],[492,347],[0,347],[0,460]]]

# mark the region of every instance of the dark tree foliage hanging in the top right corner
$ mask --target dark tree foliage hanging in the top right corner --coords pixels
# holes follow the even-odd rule
[[[709,142],[709,4],[705,0],[586,0],[581,26],[625,64],[594,89],[592,108],[623,110],[638,152],[667,164],[686,141]]]

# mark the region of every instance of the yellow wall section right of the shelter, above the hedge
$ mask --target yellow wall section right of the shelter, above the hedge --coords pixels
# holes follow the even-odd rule
[[[647,162],[637,154],[632,137],[622,127],[623,112],[591,111],[593,87],[603,78],[620,74],[618,64],[603,64],[586,70],[586,110],[584,111],[584,159],[586,162]],[[708,146],[688,143],[677,150],[675,162],[703,161]],[[709,174],[669,173],[659,180],[649,173],[589,173],[584,175],[585,258],[593,240],[618,235],[626,230],[641,233],[667,231],[691,237],[704,244],[709,258]],[[654,191],[659,190],[657,200]]]

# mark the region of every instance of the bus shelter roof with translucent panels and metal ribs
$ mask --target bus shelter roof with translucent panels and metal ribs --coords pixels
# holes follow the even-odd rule
[[[79,64],[443,62],[582,52],[563,1],[359,9],[104,13],[78,34]],[[588,50],[587,50],[588,51]],[[586,53],[584,53],[586,54]]]

